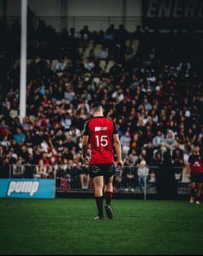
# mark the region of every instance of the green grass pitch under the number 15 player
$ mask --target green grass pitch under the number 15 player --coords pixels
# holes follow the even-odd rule
[[[203,204],[113,200],[0,200],[0,254],[202,254]]]

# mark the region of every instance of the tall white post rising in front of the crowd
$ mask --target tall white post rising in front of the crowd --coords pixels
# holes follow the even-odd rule
[[[28,0],[22,0],[21,8],[21,74],[20,74],[20,121],[26,116],[27,75],[27,7]]]

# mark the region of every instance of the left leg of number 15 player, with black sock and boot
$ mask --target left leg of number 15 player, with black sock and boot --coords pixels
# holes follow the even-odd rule
[[[98,207],[98,217],[95,220],[103,220],[103,187],[104,187],[104,178],[103,176],[98,176],[93,179],[94,182],[94,197]]]

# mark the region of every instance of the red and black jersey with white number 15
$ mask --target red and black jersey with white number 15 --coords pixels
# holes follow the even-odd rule
[[[105,116],[96,116],[86,121],[84,134],[91,144],[90,164],[111,164],[113,157],[113,135],[117,135],[114,121]]]

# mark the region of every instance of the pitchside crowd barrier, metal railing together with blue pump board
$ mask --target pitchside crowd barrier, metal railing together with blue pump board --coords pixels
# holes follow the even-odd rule
[[[149,174],[143,179],[138,177],[136,166],[125,166],[122,170],[116,168],[113,181],[114,192],[143,194],[144,199],[148,194],[157,194],[159,167],[149,166],[148,168]],[[173,186],[176,187],[177,194],[189,194],[187,169],[174,167],[171,172],[174,175]],[[9,169],[1,170],[0,174],[0,197],[53,198],[55,192],[85,193],[94,190],[89,168],[83,165],[17,166],[13,164]]]

